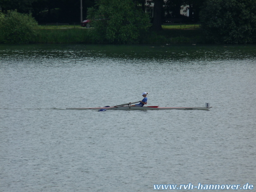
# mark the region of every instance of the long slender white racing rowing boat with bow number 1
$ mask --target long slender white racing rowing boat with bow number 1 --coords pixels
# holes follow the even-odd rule
[[[112,107],[94,107],[94,108],[66,108],[66,110],[100,110],[100,109],[111,109]],[[111,110],[209,110],[212,107],[159,107],[159,106],[149,106],[149,107],[131,107],[131,106],[121,106],[115,107]]]

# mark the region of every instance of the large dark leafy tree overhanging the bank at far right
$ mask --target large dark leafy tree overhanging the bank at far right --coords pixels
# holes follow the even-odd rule
[[[207,0],[201,26],[215,43],[256,43],[255,0]]]

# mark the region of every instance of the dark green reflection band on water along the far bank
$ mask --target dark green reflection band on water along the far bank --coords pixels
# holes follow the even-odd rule
[[[17,45],[0,46],[1,59],[91,59],[91,57],[146,60],[228,60],[256,57],[255,45]]]

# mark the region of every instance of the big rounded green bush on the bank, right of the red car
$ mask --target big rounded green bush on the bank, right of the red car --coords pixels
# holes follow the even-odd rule
[[[95,43],[137,43],[150,26],[133,0],[99,0],[88,12]]]

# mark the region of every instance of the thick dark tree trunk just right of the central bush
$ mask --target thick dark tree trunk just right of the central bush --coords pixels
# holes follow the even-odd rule
[[[153,30],[160,31],[162,29],[162,10],[164,0],[154,0],[154,12],[153,12]]]

